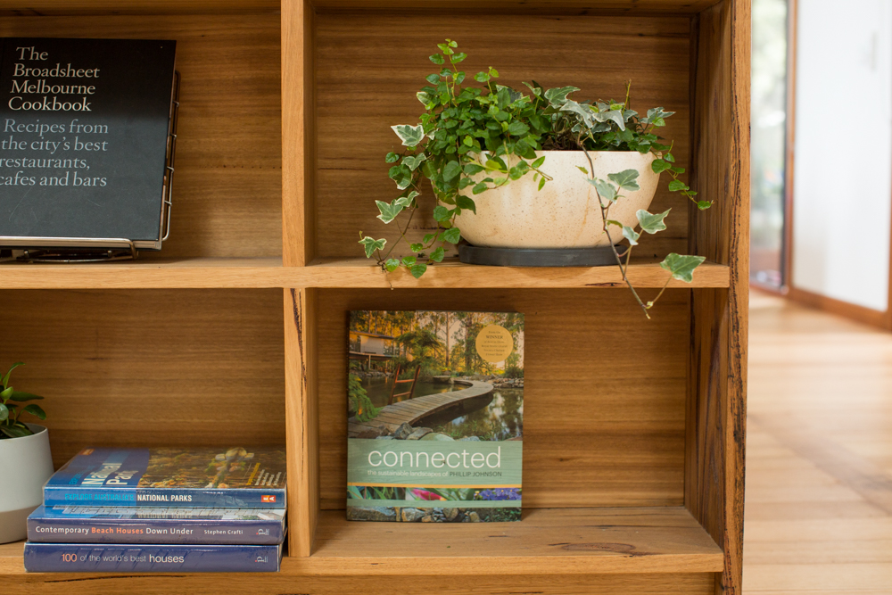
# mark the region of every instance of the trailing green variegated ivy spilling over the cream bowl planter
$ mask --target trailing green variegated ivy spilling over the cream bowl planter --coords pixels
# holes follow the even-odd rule
[[[440,70],[428,75],[427,85],[417,93],[425,112],[416,125],[392,127],[404,148],[401,153],[387,153],[385,161],[391,164],[389,175],[401,194],[391,202],[376,201],[378,219],[386,224],[400,219],[400,237],[387,248],[385,238],[359,232],[359,244],[367,258],[376,258],[384,269],[408,269],[414,277],[421,277],[428,266],[441,262],[461,239],[456,217],[463,211],[476,212],[477,194],[525,176],[532,176],[541,190],[552,178],[542,169],[546,158],[537,156],[536,151],[581,150],[587,156],[590,151],[655,153],[651,167],[672,178],[669,190],[688,197],[700,210],[709,208],[711,202],[698,200],[697,193],[679,178],[684,169],[675,165],[672,145],[665,145],[657,136],[656,130],[665,126],[665,119],[673,112],[662,107],[649,109],[643,116],[635,112],[630,106],[631,84],[626,85],[624,102],[577,102],[570,95],[579,91],[578,87],[545,89],[535,81],[524,83],[530,92],[525,94],[497,84],[499,71],[492,67],[468,79],[467,73],[459,70],[467,54],[458,52],[458,44],[447,39],[438,47],[440,52],[431,55],[430,61]],[[591,165],[591,157],[589,161]],[[631,250],[640,234],[609,219],[609,211],[623,198],[621,191],[638,189],[639,172],[629,169],[599,180],[589,171],[582,169],[598,191],[604,230],[611,245],[614,236],[610,231],[615,231],[616,239],[622,234]],[[437,227],[420,243],[410,242],[407,232],[418,199],[428,185],[436,199],[433,214]],[[401,217],[407,212],[408,217]],[[638,211],[642,230],[655,234],[665,229],[663,219],[668,213]],[[615,225],[621,229],[612,229]],[[394,254],[403,242],[411,254]],[[643,301],[627,277],[628,258],[615,247],[614,253],[625,284],[647,314],[659,295]],[[669,272],[666,285],[673,278],[690,282],[690,274],[703,260],[670,254],[661,263]]]

